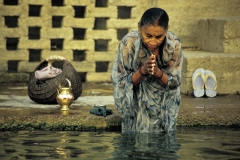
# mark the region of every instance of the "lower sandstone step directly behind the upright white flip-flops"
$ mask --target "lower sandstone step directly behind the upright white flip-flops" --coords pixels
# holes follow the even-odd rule
[[[197,68],[211,70],[217,78],[218,94],[240,92],[240,54],[183,51],[181,92],[193,93],[192,74]]]

